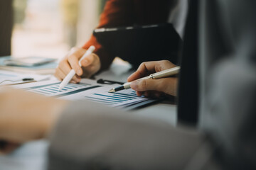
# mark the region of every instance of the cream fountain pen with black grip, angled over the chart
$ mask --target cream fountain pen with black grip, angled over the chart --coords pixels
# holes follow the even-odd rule
[[[156,72],[154,74],[150,74],[149,76],[147,77],[143,77],[141,79],[138,79],[138,80],[142,80],[142,79],[161,79],[161,78],[165,78],[165,77],[170,77],[172,75],[175,75],[175,74],[178,74],[179,72],[179,69],[181,67],[177,66],[177,67],[173,67],[171,69],[166,69],[166,70],[163,70],[161,72]],[[114,92],[117,92],[117,91],[122,91],[124,89],[130,89],[130,84],[132,82],[127,82],[125,84],[123,84],[122,86],[118,86],[116,88],[113,88],[113,89],[110,89],[110,93],[114,93]]]

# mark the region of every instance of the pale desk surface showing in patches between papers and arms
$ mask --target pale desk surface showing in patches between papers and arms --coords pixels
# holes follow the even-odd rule
[[[112,67],[113,68],[113,67]],[[114,69],[117,69],[116,67]],[[112,69],[102,72],[96,76],[96,79],[110,79],[113,81],[126,81],[131,72],[114,75]],[[131,112],[146,118],[155,118],[167,121],[176,125],[176,106],[163,101],[152,106],[147,106]],[[43,170],[46,169],[46,154],[48,148],[47,140],[29,142],[18,148],[12,154],[0,156],[0,169],[4,170]]]

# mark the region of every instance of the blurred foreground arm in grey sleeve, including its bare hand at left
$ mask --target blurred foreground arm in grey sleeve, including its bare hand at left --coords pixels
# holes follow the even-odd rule
[[[193,130],[90,101],[9,88],[0,100],[0,140],[13,145],[49,136],[48,169],[182,169],[205,142]]]

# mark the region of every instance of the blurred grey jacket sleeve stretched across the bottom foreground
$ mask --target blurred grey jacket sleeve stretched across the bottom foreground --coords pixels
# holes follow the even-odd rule
[[[183,169],[203,141],[193,130],[76,102],[50,134],[48,169]]]

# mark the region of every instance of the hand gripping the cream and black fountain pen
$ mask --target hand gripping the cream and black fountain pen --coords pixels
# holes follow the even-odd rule
[[[136,72],[130,75],[127,81],[134,81],[136,79],[149,76],[155,72],[161,72],[165,69],[176,67],[168,60],[162,60],[157,62],[143,62],[140,64]],[[138,96],[155,97],[159,98],[163,94],[176,96],[177,90],[176,77],[168,77],[163,79],[146,79],[137,80],[132,82],[131,88],[137,91]]]

